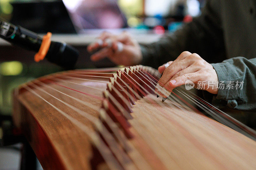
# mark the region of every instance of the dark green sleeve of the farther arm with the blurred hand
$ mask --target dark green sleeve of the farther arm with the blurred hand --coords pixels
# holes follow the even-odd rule
[[[192,22],[155,43],[141,45],[141,64],[157,68],[175,60],[183,51],[197,53],[209,63],[225,60],[219,5],[219,0],[207,0],[202,14]]]

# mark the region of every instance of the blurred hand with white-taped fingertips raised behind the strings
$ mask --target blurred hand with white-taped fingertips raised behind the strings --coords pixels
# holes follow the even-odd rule
[[[137,65],[142,60],[140,45],[131,38],[127,32],[113,35],[104,32],[94,43],[87,47],[89,52],[100,49],[91,56],[92,61],[98,61],[108,57],[112,62],[119,65]]]

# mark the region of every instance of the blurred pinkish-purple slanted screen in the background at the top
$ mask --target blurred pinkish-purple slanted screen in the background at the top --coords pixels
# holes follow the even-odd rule
[[[77,31],[126,28],[116,0],[62,0]]]

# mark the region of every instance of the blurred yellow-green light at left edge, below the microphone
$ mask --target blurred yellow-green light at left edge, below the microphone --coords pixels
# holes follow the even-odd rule
[[[22,63],[18,61],[4,62],[0,64],[0,74],[3,76],[17,76],[23,70]]]

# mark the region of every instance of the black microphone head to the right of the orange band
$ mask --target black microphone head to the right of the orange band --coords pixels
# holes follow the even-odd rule
[[[66,43],[52,41],[45,58],[65,69],[73,69],[78,55],[79,53],[76,48],[69,46]]]

